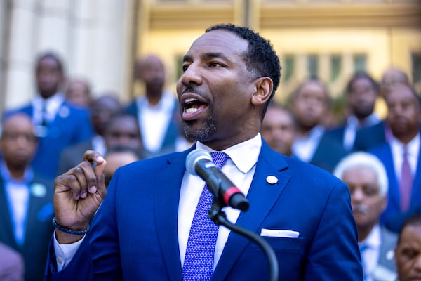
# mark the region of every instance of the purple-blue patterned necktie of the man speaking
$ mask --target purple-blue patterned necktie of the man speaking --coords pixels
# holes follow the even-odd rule
[[[219,169],[229,158],[224,152],[210,152],[212,160]],[[218,226],[208,217],[212,205],[212,194],[205,184],[190,228],[185,261],[182,266],[182,279],[187,281],[210,280],[213,274],[215,244]]]

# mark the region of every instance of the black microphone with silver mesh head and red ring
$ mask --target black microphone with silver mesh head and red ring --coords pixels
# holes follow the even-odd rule
[[[248,210],[248,200],[243,192],[215,166],[210,153],[206,150],[190,152],[186,159],[186,169],[190,174],[200,176],[203,181],[206,181],[208,190],[219,202],[224,203],[224,206],[230,206],[241,211]]]

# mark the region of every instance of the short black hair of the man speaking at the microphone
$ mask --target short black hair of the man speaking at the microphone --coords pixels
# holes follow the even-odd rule
[[[269,77],[272,79],[274,86],[271,96],[266,103],[266,107],[263,110],[263,115],[265,115],[267,105],[274,97],[281,79],[281,64],[279,63],[279,57],[276,55],[272,44],[269,40],[261,37],[258,32],[251,30],[249,27],[241,27],[226,23],[213,25],[209,27],[206,32],[213,30],[227,30],[246,39],[248,41],[248,51],[244,53],[244,60],[246,61],[248,70],[253,70],[262,77]]]

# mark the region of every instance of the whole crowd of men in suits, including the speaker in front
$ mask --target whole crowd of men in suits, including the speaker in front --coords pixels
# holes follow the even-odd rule
[[[192,149],[228,155],[221,169],[250,210],[227,218],[270,236],[282,280],[421,278],[421,98],[405,72],[354,74],[332,126],[323,81],[275,101],[279,59],[248,28],[210,27],[180,67],[175,96],[161,58],[140,58],[145,93],[123,104],[66,77],[55,53],[36,58],[36,95],[1,121],[0,257],[12,252],[1,280],[208,280],[186,269],[198,266],[190,236],[207,190],[185,172]],[[211,247],[215,280],[269,276],[222,227],[213,246],[196,242]]]

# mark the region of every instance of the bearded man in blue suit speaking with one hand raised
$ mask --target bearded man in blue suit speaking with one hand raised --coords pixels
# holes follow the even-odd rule
[[[207,209],[199,209],[208,190],[186,171],[185,162],[191,150],[203,149],[229,157],[222,172],[247,196],[250,208],[223,210],[229,221],[272,246],[279,280],[361,280],[345,183],[275,152],[260,136],[280,79],[269,41],[246,27],[215,25],[194,41],[182,70],[180,111],[185,133],[196,144],[118,169],[108,189],[98,152],[86,152],[85,161],[59,176],[46,279],[267,280],[259,247],[223,226],[210,231]],[[201,232],[193,237],[197,226]],[[194,264],[209,248],[210,259]]]

